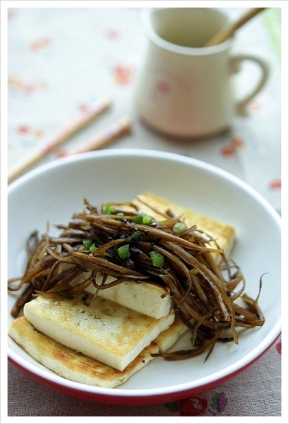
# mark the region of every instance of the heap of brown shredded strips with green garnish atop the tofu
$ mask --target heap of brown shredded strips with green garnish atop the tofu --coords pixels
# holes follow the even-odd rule
[[[192,349],[158,353],[166,360],[192,358],[218,341],[238,344],[237,328],[258,327],[264,316],[257,300],[245,292],[244,275],[223,249],[196,226],[186,227],[181,216],[168,210],[162,221],[140,213],[137,205],[101,203],[75,213],[68,225],[56,225],[58,237],[34,232],[27,240],[27,266],[22,277],[9,279],[8,290],[21,290],[12,316],[41,292],[58,292],[72,298],[95,286],[95,295],[125,280],[138,284],[153,280],[167,288],[177,316],[192,331]],[[219,260],[216,261],[216,254]],[[70,264],[60,271],[60,265]],[[76,286],[73,279],[89,277]],[[101,284],[96,276],[103,275]],[[105,284],[106,277],[115,277]],[[24,287],[24,288],[23,288]]]

